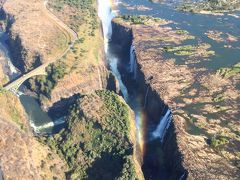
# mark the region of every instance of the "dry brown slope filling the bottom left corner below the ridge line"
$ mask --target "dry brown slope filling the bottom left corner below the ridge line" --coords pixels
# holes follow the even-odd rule
[[[0,131],[0,166],[4,179],[64,179],[64,163],[47,146],[2,118]]]

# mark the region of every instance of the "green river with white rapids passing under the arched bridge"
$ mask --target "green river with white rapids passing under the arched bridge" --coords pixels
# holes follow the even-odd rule
[[[13,65],[11,55],[8,51],[6,40],[8,35],[5,32],[0,32],[0,53],[4,58],[3,69],[9,80],[14,80],[21,75],[20,71]],[[64,125],[64,117],[52,119],[48,113],[44,112],[37,99],[24,95],[24,85],[17,92],[14,92],[20,99],[29,119],[29,124],[34,133],[52,134],[58,132]]]

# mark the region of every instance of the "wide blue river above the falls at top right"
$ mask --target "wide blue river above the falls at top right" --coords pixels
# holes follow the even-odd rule
[[[126,5],[129,7],[144,6],[149,8],[149,10],[129,9]],[[196,42],[210,44],[212,46],[210,50],[214,50],[216,55],[210,57],[209,60],[202,60],[199,63],[194,64],[196,67],[205,67],[210,71],[213,71],[221,67],[230,67],[240,62],[240,41],[218,43],[204,34],[209,30],[216,30],[240,38],[239,18],[227,14],[223,16],[213,16],[184,13],[175,10],[176,3],[161,4],[152,3],[147,0],[121,0],[118,7],[120,14],[151,15],[171,20],[174,22],[170,25],[173,29],[185,29],[191,35],[196,37]],[[239,12],[235,12],[235,14],[238,15]],[[225,48],[224,45],[231,45],[231,48]],[[175,58],[178,64],[185,63],[184,57]]]

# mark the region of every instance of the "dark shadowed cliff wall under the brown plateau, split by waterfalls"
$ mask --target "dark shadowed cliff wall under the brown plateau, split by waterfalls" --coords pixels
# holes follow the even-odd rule
[[[129,48],[134,43],[134,34],[132,33],[131,26],[126,24],[122,24],[117,20],[113,20],[113,36],[112,41],[114,43],[123,45],[124,48]],[[145,75],[144,71],[141,68],[141,65],[138,63],[141,61],[141,56],[138,54],[138,50],[136,50],[136,59],[137,59],[137,88],[138,91],[143,95],[143,99],[146,100],[144,102],[145,109],[149,115],[149,117],[155,122],[159,122],[161,116],[163,116],[168,110],[168,106],[161,99],[161,95],[159,92],[152,88],[152,76]],[[126,62],[124,62],[126,63]],[[146,94],[147,93],[147,94]],[[181,151],[178,148],[177,136],[179,136],[176,131],[176,121],[173,120],[171,123],[163,142],[163,150],[165,154],[165,162],[167,162],[167,167],[172,170],[171,179],[177,179],[181,177],[184,173],[183,177],[187,176],[187,170],[183,167],[183,156]]]

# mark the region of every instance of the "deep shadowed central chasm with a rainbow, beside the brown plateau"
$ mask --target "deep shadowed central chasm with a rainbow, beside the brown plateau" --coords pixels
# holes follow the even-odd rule
[[[111,18],[112,15],[109,16]],[[164,129],[162,129],[163,132],[160,132],[163,139],[161,140],[158,136],[156,136],[156,139],[152,139],[153,131],[156,131],[161,121],[160,117],[163,117],[168,112],[168,106],[160,99],[157,92],[149,87],[147,81],[150,81],[151,77],[145,77],[141,72],[137,64],[137,56],[136,62],[134,62],[136,64],[134,67],[135,70],[130,67],[134,38],[132,30],[131,28],[115,23],[114,20],[111,22],[111,26],[109,27],[111,28],[109,31],[112,34],[109,34],[112,36],[109,38],[109,47],[107,47],[106,52],[111,53],[111,56],[108,56],[110,57],[108,61],[110,61],[110,68],[112,70],[116,71],[116,68],[111,67],[111,58],[115,57],[118,59],[117,69],[121,74],[121,78],[117,77],[117,79],[118,81],[122,81],[120,84],[125,84],[127,92],[124,87],[123,91],[125,92],[122,92],[122,94],[125,101],[135,112],[138,143],[143,155],[142,170],[144,176],[146,179],[186,178],[186,170],[181,164],[181,153],[177,150],[174,125],[171,122],[167,122]],[[120,89],[122,90],[121,87]],[[169,129],[168,126],[170,126]],[[155,133],[158,134],[158,132]],[[160,152],[157,150],[159,148],[161,149]],[[175,156],[172,156],[172,153]]]

